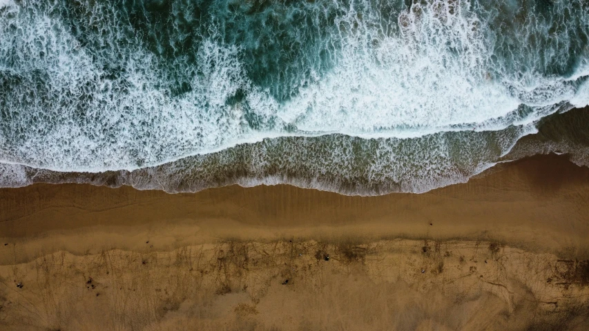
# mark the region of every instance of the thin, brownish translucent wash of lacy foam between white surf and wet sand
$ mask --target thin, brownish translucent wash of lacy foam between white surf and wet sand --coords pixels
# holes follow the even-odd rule
[[[533,127],[512,126],[497,132],[443,132],[416,139],[361,139],[342,134],[280,137],[131,172],[55,172],[5,163],[9,171],[0,178],[0,185],[93,183],[197,192],[232,184],[289,183],[354,195],[426,192],[467,181],[533,132]]]

